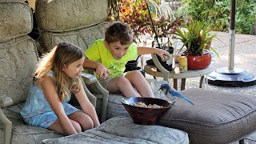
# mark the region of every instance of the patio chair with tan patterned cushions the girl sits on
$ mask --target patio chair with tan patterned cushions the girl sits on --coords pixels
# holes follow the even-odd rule
[[[20,111],[29,94],[38,50],[32,30],[30,6],[23,2],[0,2],[0,143],[40,143],[45,138],[62,137],[54,130],[27,126]],[[94,82],[90,75],[88,82]],[[86,89],[90,99],[94,96]]]

